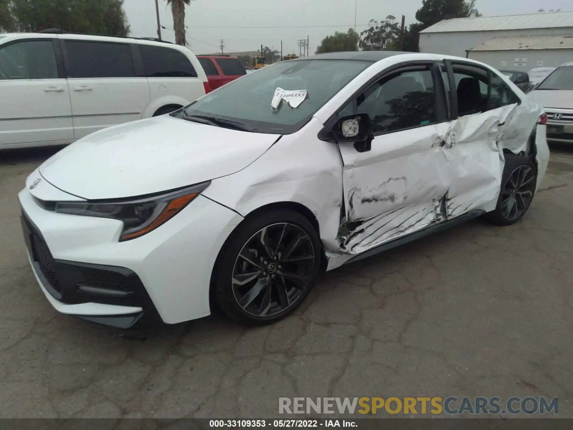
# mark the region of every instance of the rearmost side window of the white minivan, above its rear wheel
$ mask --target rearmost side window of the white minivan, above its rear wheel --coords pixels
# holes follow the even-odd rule
[[[147,77],[197,77],[189,58],[176,49],[139,45]]]

